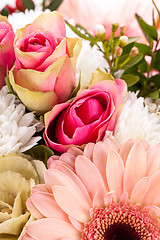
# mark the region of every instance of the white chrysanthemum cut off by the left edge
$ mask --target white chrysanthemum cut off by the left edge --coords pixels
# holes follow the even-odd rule
[[[25,113],[25,106],[4,86],[0,90],[0,155],[24,152],[36,145],[41,139],[33,137],[38,125],[34,114]]]

